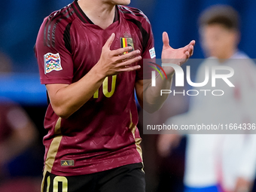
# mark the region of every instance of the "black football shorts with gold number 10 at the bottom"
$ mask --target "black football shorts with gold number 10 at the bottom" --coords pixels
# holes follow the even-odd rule
[[[58,176],[46,172],[41,192],[145,192],[142,163],[89,175]]]

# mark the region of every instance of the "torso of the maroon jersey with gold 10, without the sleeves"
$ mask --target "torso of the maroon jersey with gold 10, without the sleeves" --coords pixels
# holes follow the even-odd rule
[[[64,36],[68,39],[67,47],[73,62],[72,83],[79,81],[96,65],[102,47],[113,32],[115,39],[111,50],[126,46],[143,50],[142,33],[138,26],[123,17],[104,30],[94,24],[83,23],[76,17],[65,29],[68,36]],[[49,148],[46,164],[49,164],[47,159],[53,151],[51,146],[57,140],[54,130],[59,129],[62,137],[54,158],[53,172],[61,170],[66,175],[74,172],[87,174],[142,161],[136,149],[136,141],[139,141],[134,97],[136,73],[123,72],[105,78],[89,101],[68,119],[56,123],[59,127],[52,126],[53,119],[56,121],[58,117],[51,108],[47,111],[44,121],[46,129],[49,127],[49,134],[44,138],[44,145]],[[62,166],[63,160],[73,160],[75,164]]]

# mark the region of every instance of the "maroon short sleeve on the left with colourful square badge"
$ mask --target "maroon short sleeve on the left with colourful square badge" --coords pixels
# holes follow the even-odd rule
[[[47,17],[39,29],[35,56],[41,84],[72,84],[72,53],[65,41],[68,26]]]

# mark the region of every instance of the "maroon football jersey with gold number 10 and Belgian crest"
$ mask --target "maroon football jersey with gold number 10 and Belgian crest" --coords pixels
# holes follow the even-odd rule
[[[44,19],[35,44],[41,84],[72,84],[99,61],[102,47],[115,33],[111,50],[132,46],[143,59],[153,59],[154,39],[148,18],[135,8],[116,6],[114,22],[101,29],[77,0]],[[142,62],[133,65],[142,66]],[[134,96],[142,69],[105,78],[102,87],[67,119],[49,104],[44,170],[56,175],[84,175],[142,162]]]

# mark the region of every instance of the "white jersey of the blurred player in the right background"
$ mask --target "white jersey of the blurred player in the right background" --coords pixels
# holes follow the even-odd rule
[[[245,53],[236,52],[225,62],[206,59],[197,72],[197,81],[205,79],[205,67],[230,66],[235,74],[229,87],[222,79],[216,87],[193,87],[194,90],[223,90],[223,96],[199,94],[191,96],[186,114],[169,118],[168,123],[229,124],[256,123],[256,66]],[[210,70],[211,72],[211,70]],[[210,76],[211,78],[211,76]],[[210,92],[209,92],[210,93]],[[236,178],[252,181],[256,169],[256,134],[190,134],[187,135],[184,184],[187,187],[209,187],[221,184],[233,190]]]

